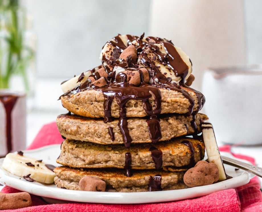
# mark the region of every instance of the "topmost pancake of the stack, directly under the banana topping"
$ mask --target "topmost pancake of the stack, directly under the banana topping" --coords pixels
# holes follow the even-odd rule
[[[144,92],[144,87],[135,87],[138,93]],[[178,92],[175,90],[158,88],[161,94],[161,114],[177,113],[177,114],[191,114],[193,111],[198,111],[199,102],[198,94],[195,90],[187,87],[181,87]],[[152,93],[151,93],[152,94]],[[101,90],[83,90],[71,95],[64,95],[61,97],[63,106],[70,112],[79,116],[89,118],[103,118],[105,117],[104,102],[105,96]],[[152,107],[155,107],[156,101],[154,95],[149,98]],[[124,105],[126,108],[126,117],[145,117],[146,113],[142,100],[128,100]],[[200,107],[202,103],[200,102]],[[116,98],[112,100],[110,112],[112,117],[119,117],[119,105]]]

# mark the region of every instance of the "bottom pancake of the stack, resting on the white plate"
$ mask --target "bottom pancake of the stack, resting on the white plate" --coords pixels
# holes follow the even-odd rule
[[[180,172],[167,172],[157,170],[133,170],[131,177],[124,175],[123,169],[82,169],[82,168],[69,168],[67,166],[56,167],[54,169],[56,177],[54,179],[57,187],[64,187],[71,190],[80,190],[79,181],[82,177],[93,176],[107,183],[106,191],[118,191],[118,192],[138,192],[148,191],[149,184],[154,182],[157,184],[159,177],[155,175],[161,175],[161,183],[158,181],[158,185],[161,190],[174,190],[183,189],[187,186],[183,183],[184,171]],[[150,179],[151,178],[151,179]],[[150,184],[151,185],[151,184]],[[150,187],[152,190],[160,190]]]

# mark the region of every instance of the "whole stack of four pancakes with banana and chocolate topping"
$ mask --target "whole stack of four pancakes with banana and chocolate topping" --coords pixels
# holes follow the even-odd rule
[[[80,179],[93,176],[106,191],[187,187],[183,175],[203,159],[204,142],[185,136],[208,119],[198,113],[204,96],[186,83],[188,61],[171,41],[118,35],[103,47],[101,66],[64,82],[71,88],[61,96],[69,113],[56,120],[66,138],[56,185],[80,190]]]

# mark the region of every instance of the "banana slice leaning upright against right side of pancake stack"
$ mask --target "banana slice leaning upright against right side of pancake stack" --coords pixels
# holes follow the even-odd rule
[[[213,130],[213,126],[210,123],[202,124],[202,134],[204,143],[206,146],[206,154],[208,157],[208,161],[211,163],[215,163],[218,166],[219,170],[219,180],[226,179],[226,173],[224,169],[224,165],[222,159],[220,157],[220,152],[218,150],[218,146],[216,143],[216,138]]]

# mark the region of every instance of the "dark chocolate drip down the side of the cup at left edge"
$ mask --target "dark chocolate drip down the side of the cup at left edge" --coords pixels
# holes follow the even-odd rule
[[[17,96],[13,95],[1,95],[0,101],[3,103],[5,107],[5,120],[6,120],[6,141],[7,141],[7,153],[12,151],[12,110],[17,101]]]

